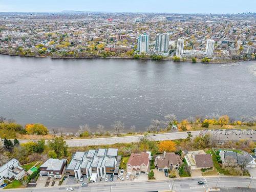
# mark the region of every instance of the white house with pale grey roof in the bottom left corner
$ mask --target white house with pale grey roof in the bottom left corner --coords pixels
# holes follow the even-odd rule
[[[17,159],[12,159],[0,167],[0,183],[8,180],[20,180],[25,176],[25,169],[19,166]]]

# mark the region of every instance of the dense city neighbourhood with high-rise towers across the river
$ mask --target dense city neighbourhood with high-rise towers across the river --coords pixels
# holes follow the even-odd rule
[[[255,13],[0,13],[0,53],[223,62],[255,59]]]

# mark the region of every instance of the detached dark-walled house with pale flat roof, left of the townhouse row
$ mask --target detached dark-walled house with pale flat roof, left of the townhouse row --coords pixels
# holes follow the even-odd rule
[[[40,177],[54,177],[61,178],[65,171],[66,160],[48,159],[40,166]]]

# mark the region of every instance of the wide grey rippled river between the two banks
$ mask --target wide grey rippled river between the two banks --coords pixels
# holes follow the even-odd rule
[[[144,130],[178,119],[256,116],[256,61],[203,64],[132,59],[0,55],[0,116],[77,129],[120,120]]]

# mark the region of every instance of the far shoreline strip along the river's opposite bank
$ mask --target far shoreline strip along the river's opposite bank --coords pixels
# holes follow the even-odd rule
[[[35,57],[35,58],[50,58],[50,59],[135,59],[135,60],[163,60],[163,61],[173,61],[176,63],[179,62],[191,62],[191,60],[180,60],[180,61],[174,61],[172,58],[161,58],[161,59],[152,59],[150,57],[144,57],[144,58],[134,58],[134,57],[51,57],[51,56],[42,56],[42,55],[10,55],[8,53],[0,53],[0,55],[8,55],[8,56],[19,56],[19,57]],[[201,62],[196,61],[196,63],[204,63],[204,64],[225,64],[225,63],[235,63],[235,62],[245,62],[245,61],[251,61],[255,59],[247,59],[247,60],[223,60],[223,61],[210,61],[210,62]]]

